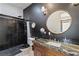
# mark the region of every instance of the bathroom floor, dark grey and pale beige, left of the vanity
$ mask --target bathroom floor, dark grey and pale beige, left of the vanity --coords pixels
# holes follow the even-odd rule
[[[32,47],[25,48],[23,45],[0,51],[0,56],[34,56]]]

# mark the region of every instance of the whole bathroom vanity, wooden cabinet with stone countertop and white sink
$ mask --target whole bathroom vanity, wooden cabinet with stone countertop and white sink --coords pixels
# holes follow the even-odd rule
[[[79,55],[79,46],[37,39],[33,41],[33,51],[35,56],[72,56]]]

